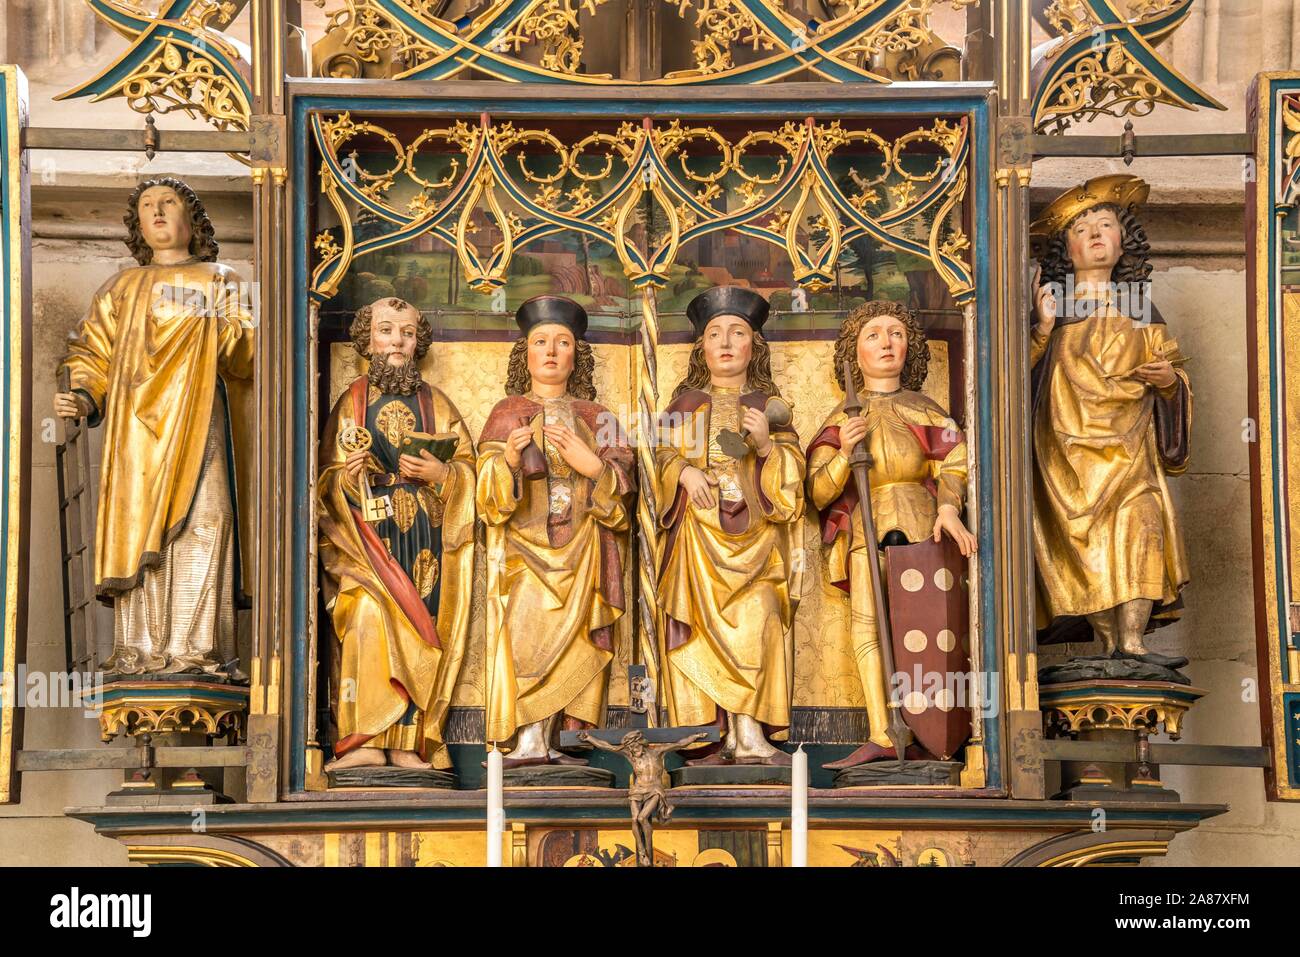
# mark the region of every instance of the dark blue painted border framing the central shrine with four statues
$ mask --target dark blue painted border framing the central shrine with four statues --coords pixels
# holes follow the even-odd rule
[[[359,81],[363,85],[364,81]],[[968,94],[966,91],[970,91]],[[702,101],[690,98],[690,90],[666,90],[662,96],[646,100],[599,101],[581,98],[566,98],[563,94],[549,99],[545,112],[556,116],[582,114],[595,117],[627,117],[627,116],[759,116],[777,118],[801,118],[805,116],[816,117],[842,117],[857,116],[897,116],[897,114],[957,114],[970,116],[972,130],[971,156],[974,163],[974,209],[971,215],[972,244],[975,250],[992,250],[992,209],[989,205],[989,112],[985,100],[985,87],[963,85],[962,94],[956,96],[920,96],[906,98],[906,88],[900,87],[904,94],[897,99],[861,101],[816,101],[816,100],[736,100],[727,103]],[[307,382],[307,317],[308,294],[307,255],[312,238],[307,235],[307,183],[308,166],[307,157],[309,150],[308,117],[312,112],[342,112],[358,113],[445,113],[456,116],[473,116],[488,112],[498,116],[537,116],[540,104],[529,100],[493,99],[446,99],[446,98],[411,98],[394,99],[382,96],[324,96],[302,95],[292,98],[292,229],[294,229],[294,308],[292,332],[290,347],[294,355],[294,381],[299,387],[294,390],[294,421],[300,426],[295,434],[304,436],[307,423],[307,395],[315,389],[302,387]],[[980,402],[976,403],[979,421],[979,488],[976,489],[976,503],[982,516],[991,516],[993,508],[993,477],[989,463],[992,462],[992,406],[988,397],[992,394],[992,354],[989,337],[992,330],[991,299],[991,265],[989,255],[979,256],[975,264],[976,287],[976,390]],[[306,583],[309,577],[307,568],[307,533],[311,528],[311,502],[308,495],[308,468],[307,445],[298,442],[294,447],[292,476],[289,485],[289,494],[294,502],[292,511],[292,581]],[[988,521],[980,523],[982,528],[988,527]],[[980,635],[980,648],[983,661],[988,663],[1000,662],[997,649],[997,633],[993,627],[994,615],[994,588],[993,588],[993,549],[987,538],[980,546],[979,554],[979,610],[983,633]],[[289,789],[300,792],[306,788],[307,780],[307,589],[298,588],[294,592],[292,610],[290,618],[290,635],[286,636],[285,648],[292,655],[290,690],[292,707],[290,709],[290,762],[289,762]],[[989,788],[1002,787],[1002,759],[1001,759],[1001,720],[1004,714],[1004,690],[1001,674],[993,683],[997,696],[996,716],[984,722],[984,749],[987,759],[987,785]],[[477,811],[476,811],[477,814]]]

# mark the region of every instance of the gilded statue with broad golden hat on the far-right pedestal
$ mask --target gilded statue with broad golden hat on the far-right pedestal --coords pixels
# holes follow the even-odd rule
[[[1178,668],[1144,635],[1180,614],[1187,554],[1167,478],[1187,468],[1186,356],[1149,296],[1135,209],[1149,187],[1115,174],[1058,196],[1031,228],[1034,551],[1040,641]]]

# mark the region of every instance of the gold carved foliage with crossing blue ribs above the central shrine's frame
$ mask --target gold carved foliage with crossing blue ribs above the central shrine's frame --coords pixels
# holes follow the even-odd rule
[[[956,64],[959,52],[937,38],[930,21],[939,5],[961,9],[974,1],[848,0],[824,4],[824,16],[810,20],[785,0],[664,0],[655,16],[676,16],[698,34],[694,66],[640,82],[768,83],[803,72],[832,82],[956,79],[956,70],[936,72],[936,55]],[[593,16],[604,0],[497,0],[456,23],[428,0],[313,3],[328,12],[326,35],[313,48],[316,75],[432,81],[480,73],[507,81],[621,82],[588,73],[582,64],[589,39],[582,14]],[[529,48],[537,52],[526,56]],[[746,62],[737,64],[738,49],[750,51]]]

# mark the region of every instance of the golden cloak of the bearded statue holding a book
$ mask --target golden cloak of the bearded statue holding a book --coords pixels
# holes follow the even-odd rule
[[[469,637],[474,566],[474,445],[464,419],[438,389],[421,385],[422,421],[415,432],[454,432],[460,442],[447,478],[417,507],[442,529],[442,554],[433,575],[441,580],[437,620],[421,590],[368,523],[360,493],[338,445],[344,421],[364,425],[367,377],[334,403],[321,436],[318,488],[320,560],[326,609],[338,638],[334,674],[335,754],[355,748],[417,750],[434,767],[450,767],[442,737],[451,692]],[[374,489],[382,494],[382,488]],[[400,724],[408,707],[417,715]]]

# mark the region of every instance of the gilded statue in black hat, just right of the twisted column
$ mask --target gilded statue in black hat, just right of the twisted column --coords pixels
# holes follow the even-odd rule
[[[789,765],[790,628],[802,575],[803,450],[772,381],[767,300],[719,286],[655,447],[662,694],[673,727],[725,735],[688,763]]]

